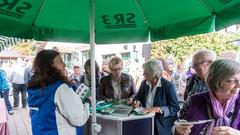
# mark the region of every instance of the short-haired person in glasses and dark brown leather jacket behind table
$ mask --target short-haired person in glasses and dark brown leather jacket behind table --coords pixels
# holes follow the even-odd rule
[[[127,103],[131,104],[137,92],[132,76],[122,73],[122,59],[117,56],[112,57],[108,67],[111,73],[100,81],[101,98],[110,101],[126,99]]]

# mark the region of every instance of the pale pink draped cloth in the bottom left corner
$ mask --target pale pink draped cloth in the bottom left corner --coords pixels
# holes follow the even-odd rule
[[[3,98],[0,98],[0,135],[10,135],[8,112]]]

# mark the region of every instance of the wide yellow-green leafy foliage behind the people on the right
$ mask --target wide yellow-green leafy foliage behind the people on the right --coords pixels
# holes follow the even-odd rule
[[[213,32],[186,36],[177,39],[162,40],[152,43],[152,57],[162,57],[164,59],[174,56],[176,63],[182,63],[199,49],[210,49],[217,55],[228,50],[240,50],[240,47],[233,45],[233,40],[240,39],[240,33],[226,34]]]

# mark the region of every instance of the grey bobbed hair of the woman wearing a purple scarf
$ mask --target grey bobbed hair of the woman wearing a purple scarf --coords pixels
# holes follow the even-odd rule
[[[239,73],[239,62],[230,59],[219,59],[208,67],[206,83],[212,91],[217,91],[222,87],[224,81]]]

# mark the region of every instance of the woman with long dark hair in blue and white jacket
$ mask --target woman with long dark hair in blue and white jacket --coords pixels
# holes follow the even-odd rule
[[[65,63],[55,50],[40,51],[28,82],[28,104],[33,135],[81,135],[89,117],[88,105],[70,87]]]

